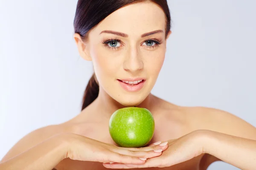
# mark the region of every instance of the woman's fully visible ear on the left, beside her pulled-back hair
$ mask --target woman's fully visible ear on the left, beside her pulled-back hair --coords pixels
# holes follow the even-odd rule
[[[87,61],[91,61],[91,57],[90,57],[90,53],[88,50],[88,45],[85,44],[85,42],[82,40],[81,36],[77,33],[74,34],[74,39],[76,41],[76,45],[79,51],[79,55],[87,60]]]

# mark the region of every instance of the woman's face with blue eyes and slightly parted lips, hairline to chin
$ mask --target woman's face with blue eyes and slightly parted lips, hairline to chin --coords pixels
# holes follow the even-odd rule
[[[110,14],[93,28],[85,43],[100,92],[125,106],[139,105],[150,94],[166,52],[166,17],[154,3],[134,3]]]

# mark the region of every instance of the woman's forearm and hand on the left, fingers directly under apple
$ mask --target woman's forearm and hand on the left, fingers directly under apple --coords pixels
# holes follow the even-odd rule
[[[35,147],[0,163],[1,170],[52,170],[61,160],[144,164],[168,146],[123,148],[73,133],[53,136]],[[156,150],[156,151],[154,151]]]

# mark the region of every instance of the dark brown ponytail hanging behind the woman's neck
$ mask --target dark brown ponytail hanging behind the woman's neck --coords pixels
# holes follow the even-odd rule
[[[84,91],[82,110],[90,105],[99,95],[99,85],[96,81],[95,73],[90,78]]]

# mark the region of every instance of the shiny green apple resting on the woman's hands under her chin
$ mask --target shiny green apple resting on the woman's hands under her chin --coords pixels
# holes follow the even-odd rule
[[[109,120],[111,138],[120,147],[145,146],[154,135],[154,127],[154,118],[146,108],[121,108]]]

